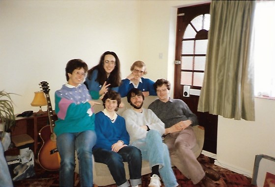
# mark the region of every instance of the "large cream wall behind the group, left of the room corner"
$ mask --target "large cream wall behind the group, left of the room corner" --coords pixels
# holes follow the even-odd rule
[[[128,75],[139,57],[139,14],[137,0],[0,0],[0,90],[21,95],[15,113],[38,111],[30,103],[41,81],[53,102],[73,58],[90,68],[114,51]]]

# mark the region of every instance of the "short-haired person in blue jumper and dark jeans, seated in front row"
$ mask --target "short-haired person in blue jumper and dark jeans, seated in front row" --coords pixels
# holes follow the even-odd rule
[[[128,162],[132,187],[141,185],[141,152],[129,146],[130,137],[125,120],[115,111],[121,102],[117,92],[108,91],[102,98],[104,110],[95,115],[97,141],[93,148],[96,162],[108,165],[118,187],[129,187],[123,162]]]

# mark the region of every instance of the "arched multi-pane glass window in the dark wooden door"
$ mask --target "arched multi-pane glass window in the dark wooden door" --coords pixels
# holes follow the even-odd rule
[[[188,24],[182,38],[181,85],[201,87],[207,51],[210,14],[201,14]]]

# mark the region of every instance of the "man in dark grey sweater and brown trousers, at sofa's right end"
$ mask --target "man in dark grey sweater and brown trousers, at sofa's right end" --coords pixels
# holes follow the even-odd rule
[[[214,170],[203,169],[192,152],[192,148],[196,145],[196,137],[192,128],[198,125],[196,115],[184,101],[169,97],[169,81],[158,79],[154,88],[159,99],[152,102],[148,108],[165,123],[164,142],[170,156],[173,155],[172,164],[191,179],[193,184],[202,181],[207,187],[214,186],[210,179],[217,181],[220,175]]]

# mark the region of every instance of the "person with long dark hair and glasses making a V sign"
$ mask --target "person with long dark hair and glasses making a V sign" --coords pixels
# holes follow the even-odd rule
[[[99,63],[88,70],[84,84],[92,98],[99,99],[109,89],[118,92],[120,82],[119,59],[114,52],[106,51],[101,55]]]

